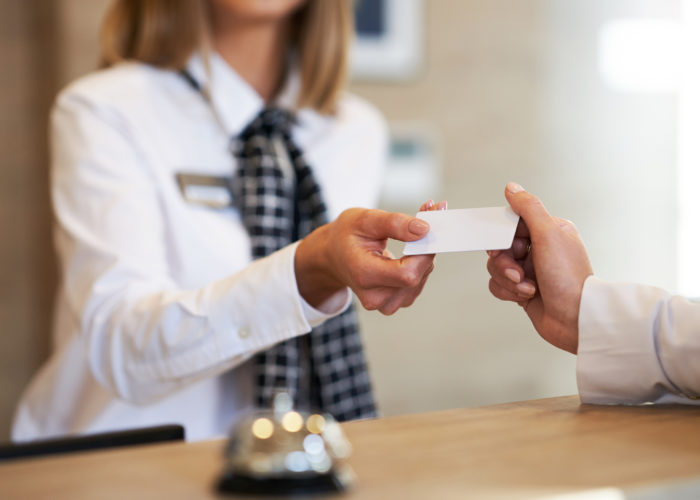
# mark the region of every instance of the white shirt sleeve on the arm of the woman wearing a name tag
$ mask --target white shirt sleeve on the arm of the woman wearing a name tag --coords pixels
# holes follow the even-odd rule
[[[150,403],[310,331],[294,275],[296,244],[202,288],[181,289],[167,270],[171,229],[160,216],[157,183],[130,128],[70,94],[52,120],[63,293],[101,385]],[[326,317],[317,311],[313,323]]]

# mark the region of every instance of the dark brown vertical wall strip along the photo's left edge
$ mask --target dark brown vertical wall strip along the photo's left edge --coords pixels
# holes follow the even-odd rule
[[[45,146],[54,12],[29,3],[0,2],[0,440],[48,351],[55,283]]]

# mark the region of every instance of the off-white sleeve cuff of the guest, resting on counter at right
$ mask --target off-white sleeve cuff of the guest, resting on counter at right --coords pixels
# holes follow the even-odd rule
[[[584,403],[700,404],[700,304],[589,277],[577,380]]]

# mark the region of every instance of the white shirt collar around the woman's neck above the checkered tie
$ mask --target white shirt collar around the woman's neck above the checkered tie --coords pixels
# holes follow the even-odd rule
[[[274,104],[295,109],[300,81],[298,67],[292,70],[274,100]],[[229,135],[238,135],[260,113],[265,101],[229,64],[216,52],[209,54],[209,71],[199,54],[187,63],[187,71],[203,89],[208,89],[214,112]]]

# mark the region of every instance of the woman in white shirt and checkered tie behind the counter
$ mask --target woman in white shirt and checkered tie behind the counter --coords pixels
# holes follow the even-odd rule
[[[384,253],[418,219],[346,210],[375,202],[386,143],[341,92],[349,33],[345,0],[114,4],[106,69],[52,116],[55,349],[14,439],[166,422],[201,439],[280,389],[374,415],[348,287],[391,314],[432,258]]]

